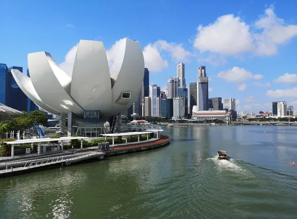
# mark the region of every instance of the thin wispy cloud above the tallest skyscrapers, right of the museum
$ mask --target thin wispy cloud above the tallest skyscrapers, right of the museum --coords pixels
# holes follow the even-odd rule
[[[167,43],[163,40],[158,40],[154,43],[159,50],[171,53],[171,56],[176,62],[187,62],[192,56],[192,53],[183,48],[183,44]]]

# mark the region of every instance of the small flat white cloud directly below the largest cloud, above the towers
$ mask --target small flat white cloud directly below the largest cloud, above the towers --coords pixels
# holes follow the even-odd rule
[[[247,71],[244,68],[233,67],[227,71],[222,71],[217,74],[218,78],[221,78],[227,82],[244,82],[247,79],[262,79],[263,75],[253,75],[251,72]]]

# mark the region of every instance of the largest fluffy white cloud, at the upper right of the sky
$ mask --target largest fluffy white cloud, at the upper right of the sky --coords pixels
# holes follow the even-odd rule
[[[252,29],[250,28],[252,27]],[[198,26],[194,47],[201,52],[222,55],[251,52],[254,55],[273,55],[277,47],[297,36],[297,25],[287,25],[270,6],[264,15],[250,26],[233,14],[223,15],[208,26]]]

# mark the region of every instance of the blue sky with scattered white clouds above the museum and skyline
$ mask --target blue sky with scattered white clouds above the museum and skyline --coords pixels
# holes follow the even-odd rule
[[[47,51],[71,74],[79,40],[103,41],[112,62],[121,39],[139,41],[150,83],[161,88],[185,63],[198,65],[209,97],[236,98],[237,111],[297,109],[297,1],[0,0],[0,63],[27,69],[27,54]]]

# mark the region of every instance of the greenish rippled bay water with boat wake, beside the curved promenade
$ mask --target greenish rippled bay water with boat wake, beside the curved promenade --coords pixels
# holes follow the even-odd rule
[[[0,179],[0,219],[296,218],[297,127],[163,134],[171,143],[158,149]]]

